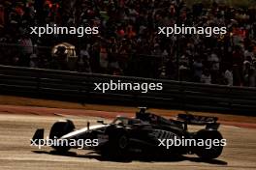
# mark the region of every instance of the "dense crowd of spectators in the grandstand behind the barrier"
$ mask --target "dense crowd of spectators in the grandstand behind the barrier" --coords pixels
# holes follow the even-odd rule
[[[30,35],[30,26],[97,26],[99,35]],[[158,35],[158,27],[227,27],[226,35]],[[182,0],[0,0],[0,64],[255,87],[256,10]],[[69,67],[62,47],[76,46]]]

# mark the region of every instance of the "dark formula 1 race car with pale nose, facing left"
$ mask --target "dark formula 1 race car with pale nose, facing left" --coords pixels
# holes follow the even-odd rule
[[[204,159],[221,155],[226,140],[217,130],[216,117],[178,114],[176,119],[166,119],[146,111],[144,107],[135,118],[116,117],[111,124],[97,121],[99,125],[75,129],[72,121],[64,120],[53,124],[48,139],[63,141],[66,145],[51,142],[57,152],[68,152],[71,148],[94,150],[102,156],[127,156],[141,153],[146,156],[170,156],[196,154]],[[189,132],[188,125],[206,126]],[[36,130],[34,145],[46,145],[44,128]],[[78,141],[86,141],[80,147]],[[31,142],[31,143],[32,143]],[[76,143],[77,142],[77,143]],[[72,144],[72,145],[71,145]]]

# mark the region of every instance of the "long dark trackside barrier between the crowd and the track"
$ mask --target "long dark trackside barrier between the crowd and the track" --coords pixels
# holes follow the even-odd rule
[[[97,82],[110,80],[163,83],[162,91],[94,91]],[[49,71],[0,66],[0,93],[42,99],[98,102],[254,115],[256,89],[206,85],[170,80],[112,76],[72,71]]]

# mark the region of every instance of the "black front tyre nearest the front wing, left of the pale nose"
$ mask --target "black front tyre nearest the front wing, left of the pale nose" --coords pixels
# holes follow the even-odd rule
[[[75,129],[75,126],[72,121],[70,120],[60,120],[53,124],[53,126],[50,128],[49,131],[49,139],[58,139],[61,136],[73,131]],[[70,146],[51,146],[58,152],[67,152],[71,149]]]

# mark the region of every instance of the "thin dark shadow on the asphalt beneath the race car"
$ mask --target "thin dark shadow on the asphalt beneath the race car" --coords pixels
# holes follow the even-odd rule
[[[227,165],[228,163],[219,159],[205,160],[200,157],[191,156],[125,156],[125,158],[110,158],[106,156],[97,155],[94,152],[87,153],[85,155],[79,155],[76,152],[59,153],[56,151],[32,151],[36,154],[46,154],[54,156],[72,156],[72,157],[84,157],[97,159],[99,161],[115,161],[115,162],[131,162],[131,161],[144,161],[144,162],[177,162],[177,161],[192,161],[192,162],[205,162],[208,164]]]

